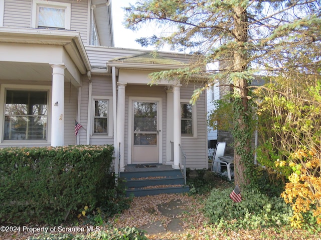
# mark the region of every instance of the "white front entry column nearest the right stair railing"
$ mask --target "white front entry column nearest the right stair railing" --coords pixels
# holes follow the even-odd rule
[[[173,86],[173,133],[174,133],[174,169],[180,168],[181,144],[181,85]]]

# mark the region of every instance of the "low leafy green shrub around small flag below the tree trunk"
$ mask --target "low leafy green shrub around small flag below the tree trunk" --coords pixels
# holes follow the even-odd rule
[[[244,189],[242,201],[235,203],[229,197],[232,190],[212,190],[204,208],[211,223],[232,229],[288,224],[291,209],[282,198],[268,197],[256,189]]]

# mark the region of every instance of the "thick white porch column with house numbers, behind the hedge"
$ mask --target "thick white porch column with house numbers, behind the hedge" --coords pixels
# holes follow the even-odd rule
[[[51,145],[64,145],[65,131],[65,66],[52,65]]]

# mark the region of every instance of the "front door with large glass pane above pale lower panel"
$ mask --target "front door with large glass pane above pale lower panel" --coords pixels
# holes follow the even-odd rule
[[[133,101],[133,163],[158,163],[158,103]]]

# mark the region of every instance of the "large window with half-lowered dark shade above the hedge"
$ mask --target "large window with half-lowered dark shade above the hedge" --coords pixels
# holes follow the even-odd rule
[[[47,140],[48,91],[6,90],[4,140]]]

